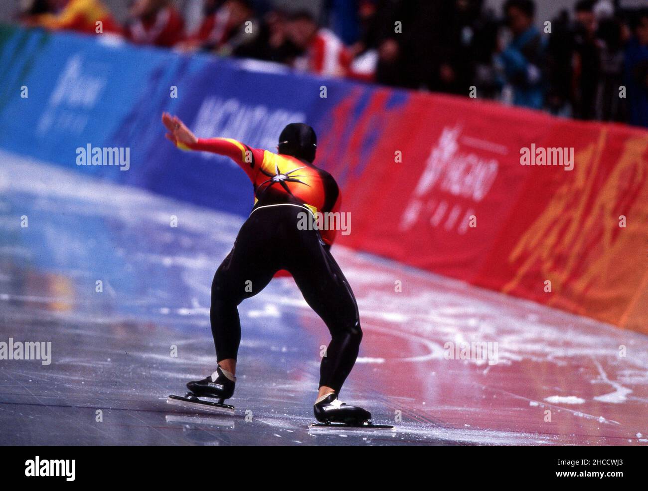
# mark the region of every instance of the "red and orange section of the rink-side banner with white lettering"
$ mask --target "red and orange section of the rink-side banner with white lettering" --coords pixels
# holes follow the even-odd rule
[[[647,131],[387,90],[330,124],[340,244],[648,334]]]

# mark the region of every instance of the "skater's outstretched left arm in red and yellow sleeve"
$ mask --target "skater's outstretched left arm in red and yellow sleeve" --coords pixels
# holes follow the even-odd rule
[[[250,179],[254,179],[259,172],[264,150],[250,148],[230,138],[198,138],[177,116],[169,113],[162,113],[162,122],[168,131],[165,137],[181,150],[199,150],[226,155],[245,170]]]

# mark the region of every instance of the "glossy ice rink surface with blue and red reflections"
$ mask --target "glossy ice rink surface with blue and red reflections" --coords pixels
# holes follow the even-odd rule
[[[49,365],[0,360],[0,444],[648,443],[648,337],[340,246],[365,333],[341,399],[395,431],[308,429],[329,335],[292,279],[239,307],[235,416],[178,413],[215,368],[209,287],[242,219],[0,161],[0,341],[52,343]],[[446,360],[471,341],[497,363]]]

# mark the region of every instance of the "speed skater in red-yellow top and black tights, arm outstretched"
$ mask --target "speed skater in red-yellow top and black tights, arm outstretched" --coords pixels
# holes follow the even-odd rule
[[[277,271],[286,269],[331,334],[321,361],[316,418],[323,423],[369,421],[369,411],[338,400],[358,357],[362,329],[351,286],[330,253],[335,230],[305,226],[316,223],[316,214],[340,207],[335,179],[313,165],[315,131],[306,124],[288,124],[279,135],[275,154],[233,139],[197,138],[168,113],[162,121],[167,139],[178,148],[227,155],[235,161],[252,181],[255,195],[248,220],[211,285],[209,317],[218,367],[211,376],[187,383],[191,393],[217,398],[220,404],[232,396],[241,337],[237,306],[263,290]]]

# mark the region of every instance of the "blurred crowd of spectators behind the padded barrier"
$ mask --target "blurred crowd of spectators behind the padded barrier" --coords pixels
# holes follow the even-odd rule
[[[325,0],[321,12],[203,0],[192,32],[171,0],[130,1],[122,25],[101,0],[26,4],[21,21],[47,29],[648,127],[648,10],[612,0],[581,0],[553,19],[537,19],[533,0],[507,0],[502,12],[483,0]]]

